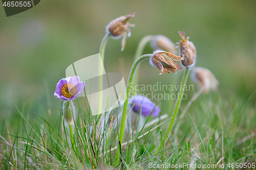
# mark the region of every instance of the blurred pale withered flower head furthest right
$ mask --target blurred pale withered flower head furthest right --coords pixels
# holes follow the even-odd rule
[[[203,67],[193,67],[191,70],[192,79],[198,83],[201,88],[204,88],[204,93],[208,93],[210,88],[217,90],[219,82],[210,70]]]

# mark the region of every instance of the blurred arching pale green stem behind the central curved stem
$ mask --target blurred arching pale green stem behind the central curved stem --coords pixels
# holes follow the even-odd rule
[[[154,37],[154,35],[146,35],[145,37],[143,37],[140,42],[138,43],[135,55],[134,55],[134,62],[143,54],[144,48],[146,46],[146,44],[148,42],[150,42],[152,40],[152,38]],[[139,70],[140,66],[137,67],[137,70]],[[133,91],[132,94],[135,95],[136,94],[136,89],[135,86],[138,84],[138,79],[139,79],[139,71],[135,72],[134,75],[134,80],[133,80]]]

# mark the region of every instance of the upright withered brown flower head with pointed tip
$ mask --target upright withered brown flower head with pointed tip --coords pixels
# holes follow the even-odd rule
[[[196,62],[196,48],[193,42],[188,40],[188,37],[185,37],[185,32],[179,31],[181,40],[178,42],[180,48],[180,56],[184,58],[181,63],[186,66],[194,66]]]

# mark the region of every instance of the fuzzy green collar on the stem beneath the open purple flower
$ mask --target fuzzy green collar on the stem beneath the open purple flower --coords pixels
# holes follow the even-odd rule
[[[73,113],[75,113],[73,101],[67,100],[63,102],[62,112],[63,112],[65,123],[68,124],[68,126],[73,126],[74,124]]]

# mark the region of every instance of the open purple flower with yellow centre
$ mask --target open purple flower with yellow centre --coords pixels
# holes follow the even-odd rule
[[[81,94],[84,82],[80,82],[78,76],[61,79],[56,86],[54,95],[62,100],[73,100]]]

